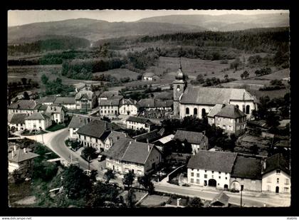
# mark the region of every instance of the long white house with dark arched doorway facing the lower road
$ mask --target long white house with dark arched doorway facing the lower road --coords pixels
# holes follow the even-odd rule
[[[188,184],[229,189],[236,153],[199,150],[187,164]]]

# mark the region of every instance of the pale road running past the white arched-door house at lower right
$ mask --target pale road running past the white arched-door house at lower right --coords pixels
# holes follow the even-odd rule
[[[209,189],[196,189],[191,187],[179,187],[173,184],[161,184],[161,183],[154,183],[154,188],[156,191],[159,192],[168,192],[174,194],[182,194],[189,197],[200,197],[202,199],[211,200],[213,199],[216,194],[219,194],[219,191],[216,190],[209,190]],[[229,195],[229,203],[240,205],[240,194],[234,194],[231,192],[226,192]],[[246,196],[246,194],[242,196],[242,204],[243,206],[258,206],[263,207],[264,204],[266,206],[289,206],[290,205],[290,198],[262,198],[262,197],[253,197],[253,196]]]

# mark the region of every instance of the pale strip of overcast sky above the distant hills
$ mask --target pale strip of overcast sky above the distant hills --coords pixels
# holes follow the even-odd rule
[[[8,25],[62,21],[66,19],[98,19],[104,21],[137,21],[152,16],[170,14],[272,14],[288,13],[287,10],[14,10],[8,12]]]

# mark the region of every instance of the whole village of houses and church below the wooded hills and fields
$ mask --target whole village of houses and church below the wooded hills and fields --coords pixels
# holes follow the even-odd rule
[[[244,88],[191,85],[180,60],[169,98],[74,86],[68,96],[28,90],[9,103],[11,182],[31,182],[43,167],[40,197],[52,200],[82,199],[89,178],[106,187],[91,194],[114,192],[90,206],[290,206],[290,119],[259,117],[280,115],[287,95],[270,108]]]

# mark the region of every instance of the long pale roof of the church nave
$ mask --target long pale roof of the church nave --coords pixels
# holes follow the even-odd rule
[[[240,88],[204,88],[188,86],[182,95],[182,104],[216,105],[229,103],[230,100],[252,100],[253,95]]]

